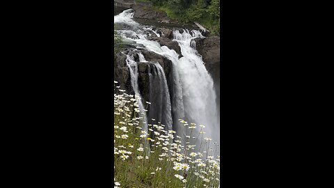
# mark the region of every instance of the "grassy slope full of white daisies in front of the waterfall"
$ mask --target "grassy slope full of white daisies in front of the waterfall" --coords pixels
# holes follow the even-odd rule
[[[218,146],[211,139],[203,139],[205,126],[199,126],[201,133],[196,137],[192,133],[197,125],[180,120],[182,132],[188,135],[183,138],[173,130],[167,131],[159,122],[145,130],[137,103],[140,99],[120,90],[117,84],[115,81],[115,187],[218,187]],[[194,146],[200,138],[200,147]]]

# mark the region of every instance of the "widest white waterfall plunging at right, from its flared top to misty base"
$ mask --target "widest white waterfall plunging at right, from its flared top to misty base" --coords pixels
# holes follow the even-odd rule
[[[184,113],[189,122],[197,124],[196,134],[200,132],[199,125],[207,128],[206,136],[219,143],[219,118],[216,108],[216,93],[214,81],[207,72],[202,56],[191,47],[195,38],[202,38],[200,31],[183,33],[173,31],[174,40],[180,45],[183,57],[177,63],[177,71],[182,82]]]

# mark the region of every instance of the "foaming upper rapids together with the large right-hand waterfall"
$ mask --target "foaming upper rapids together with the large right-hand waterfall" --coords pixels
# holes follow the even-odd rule
[[[173,32],[174,40],[179,43],[183,55],[182,58],[178,58],[179,54],[173,49],[166,46],[161,47],[158,42],[147,39],[148,35],[145,30],[152,31],[152,29],[143,28],[134,22],[131,10],[125,10],[116,17],[114,23],[127,24],[132,27],[132,29],[120,31],[123,38],[134,41],[138,45],[143,45],[151,52],[165,56],[173,62],[173,88],[171,88],[174,93],[173,98],[171,98],[173,107],[171,110],[166,109],[166,113],[173,112],[173,129],[180,131],[181,125],[178,123],[178,119],[185,118],[189,124],[197,124],[193,136],[197,136],[200,132],[199,125],[205,125],[205,137],[219,143],[220,123],[216,111],[216,93],[214,92],[213,80],[204,66],[202,57],[194,48],[196,44],[193,39],[203,37],[200,32],[196,30],[190,32],[185,30],[183,33],[177,30]],[[141,27],[141,29],[138,29],[138,27]],[[143,57],[139,57],[143,61]],[[165,76],[164,82],[166,82]],[[167,84],[164,84],[164,86],[166,87]],[[136,89],[138,92],[138,83],[136,87],[134,90]],[[189,135],[189,132],[184,132],[184,134]]]

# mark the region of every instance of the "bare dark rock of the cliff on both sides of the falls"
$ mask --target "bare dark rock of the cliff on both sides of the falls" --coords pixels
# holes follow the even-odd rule
[[[164,31],[164,33],[167,33],[164,36],[161,37],[151,37],[151,40],[155,40],[159,42],[161,46],[167,46],[170,49],[174,49],[177,54],[179,54],[179,57],[182,57],[180,46],[177,44],[177,42],[170,39],[171,36],[173,36],[173,33],[171,29],[161,29],[161,31]],[[159,32],[159,31],[158,31]],[[219,96],[220,96],[220,38],[218,36],[209,36],[206,38],[196,38],[196,49],[198,50],[198,53],[202,56],[203,61],[205,62],[205,68],[207,68],[207,71],[210,75],[212,75],[212,79],[214,79],[214,88],[216,90],[217,95],[217,104],[220,104]],[[125,53],[122,53],[125,52]],[[138,61],[138,55],[136,52],[134,52],[134,47],[131,47],[131,45],[125,47],[125,49],[118,53],[116,55],[115,61],[114,61],[114,75],[115,79],[120,82],[121,88],[125,88],[125,90],[133,93],[133,90],[131,88],[131,80],[129,77],[129,68],[127,68],[127,65],[125,63],[125,59],[127,56],[125,54],[131,53],[134,54],[135,60]],[[148,50],[141,49],[141,52],[144,54],[147,61],[150,63],[152,62],[159,62],[162,68],[164,68],[164,72],[167,77],[168,81],[168,87],[172,88],[173,84],[171,84],[171,75],[172,75],[172,69],[173,66],[171,65],[171,61],[168,60],[168,58],[161,56],[159,54],[156,54],[154,52],[149,52]],[[145,101],[148,101],[149,99],[149,86],[148,86],[148,77],[149,73],[152,72],[151,67],[149,66],[150,63],[139,63],[138,62],[138,71],[139,71],[139,78],[138,82],[141,88],[141,95],[143,96]],[[220,107],[218,106],[218,109]]]

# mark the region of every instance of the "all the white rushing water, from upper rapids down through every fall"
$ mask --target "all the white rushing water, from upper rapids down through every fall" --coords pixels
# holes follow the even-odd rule
[[[173,31],[173,40],[178,42],[182,57],[179,58],[173,49],[161,47],[158,42],[148,40],[148,36],[155,33],[154,29],[142,26],[133,19],[132,10],[125,10],[114,17],[114,24],[121,24],[118,30],[125,42],[131,42],[145,47],[150,52],[165,56],[173,63],[173,87],[168,88],[164,69],[159,63],[150,64],[153,72],[150,73],[150,107],[149,114],[143,111],[143,102],[139,102],[140,110],[145,114],[145,122],[150,123],[150,118],[156,118],[166,125],[167,130],[176,130],[179,134],[189,135],[189,132],[180,132],[182,125],[179,119],[184,118],[187,122],[196,123],[193,133],[199,134],[201,127],[205,125],[205,137],[219,143],[220,121],[217,114],[216,93],[214,81],[207,72],[202,56],[196,50],[193,39],[204,38],[200,31],[178,29]],[[138,51],[139,61],[148,63],[145,56]],[[132,87],[140,97],[138,88],[138,65],[133,56],[127,55],[127,66],[130,69]],[[153,67],[152,67],[153,66]],[[170,95],[173,93],[173,95]],[[145,125],[147,129],[147,125]],[[186,130],[189,131],[189,130]],[[193,135],[195,135],[193,134]]]

